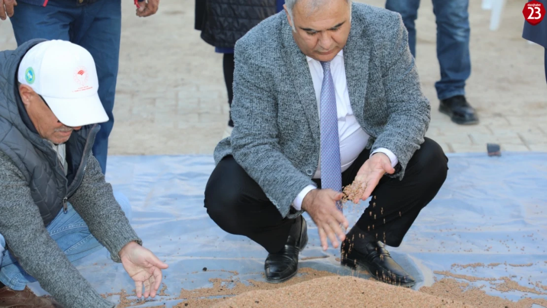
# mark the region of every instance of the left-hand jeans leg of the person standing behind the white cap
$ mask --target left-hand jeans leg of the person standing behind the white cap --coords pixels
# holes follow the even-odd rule
[[[69,40],[73,13],[55,1],[46,7],[18,2],[10,18],[17,44],[34,38]]]

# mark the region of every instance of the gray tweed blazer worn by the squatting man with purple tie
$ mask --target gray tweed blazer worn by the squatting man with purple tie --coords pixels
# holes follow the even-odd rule
[[[367,148],[387,148],[402,179],[423,143],[430,104],[420,88],[408,33],[398,13],[354,3],[344,48],[347,86],[358,123],[371,136]],[[216,164],[234,159],[264,190],[283,217],[316,172],[319,111],[306,56],[283,11],[255,26],[235,46],[235,127],[214,150]],[[229,176],[229,175],[226,175]]]

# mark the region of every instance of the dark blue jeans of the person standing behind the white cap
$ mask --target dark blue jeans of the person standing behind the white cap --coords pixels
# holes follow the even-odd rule
[[[98,0],[76,5],[75,0],[52,0],[46,7],[22,1],[10,18],[18,45],[34,38],[69,40],[87,49],[97,67],[98,95],[109,120],[101,123],[93,154],[106,172],[108,136],[114,125],[112,111],[121,33],[121,0]]]

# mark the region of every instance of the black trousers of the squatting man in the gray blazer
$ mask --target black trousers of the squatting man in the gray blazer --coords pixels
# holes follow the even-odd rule
[[[350,168],[342,172],[342,185],[353,182],[369,156],[370,151],[363,150]],[[443,185],[447,162],[439,144],[426,137],[410,159],[401,181],[383,176],[357,221],[360,229],[368,231],[369,240],[398,247],[422,208]],[[321,181],[316,183],[320,188]],[[270,253],[283,248],[294,223],[294,219],[281,216],[232,156],[226,156],[214,168],[205,188],[205,207],[224,231],[247,236]]]

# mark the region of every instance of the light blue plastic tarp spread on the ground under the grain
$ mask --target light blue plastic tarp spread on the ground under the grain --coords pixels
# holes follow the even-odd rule
[[[430,286],[434,277],[444,277],[435,271],[493,278],[513,275],[526,287],[533,287],[529,281],[547,285],[547,153],[447,156],[450,170],[443,188],[422,210],[401,246],[389,249],[417,278],[414,289]],[[168,296],[157,298],[167,307],[181,302],[170,298],[178,297],[182,288],[211,287],[210,278],[234,275],[225,271],[237,271],[234,277],[241,281],[264,279],[260,274],[267,255],[264,249],[246,237],[225,233],[203,207],[203,191],[213,168],[212,156],[206,155],[110,156],[108,160],[107,181],[131,201],[131,223],[144,246],[170,265],[164,271]],[[350,226],[365,202],[346,211]],[[305,217],[309,243],[300,257],[328,257],[301,260],[299,266],[357,275],[336,261],[338,249],[322,251],[317,229]],[[500,265],[453,266],[472,263]],[[134,288],[123,267],[108,258],[106,249],[75,264],[102,294]],[[486,281],[472,284],[485,285],[488,294],[511,300],[523,296],[522,292],[499,292]],[[36,284],[33,288],[40,292]],[[526,297],[547,295],[527,293]],[[158,301],[139,307],[158,305]]]

